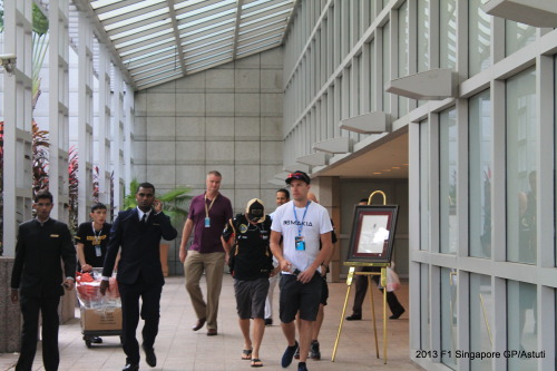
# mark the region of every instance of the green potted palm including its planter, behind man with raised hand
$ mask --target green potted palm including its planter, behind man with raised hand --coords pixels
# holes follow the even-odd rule
[[[134,178],[129,183],[126,196],[124,196],[123,208],[128,209],[137,207],[136,191],[139,182]],[[187,217],[187,209],[184,205],[192,196],[188,193],[192,189],[188,187],[177,187],[163,195],[155,195],[157,199],[163,202],[163,212],[170,217],[170,223],[176,227]],[[166,242],[160,243],[160,264],[163,265],[163,274],[168,276],[168,248],[170,245]]]

